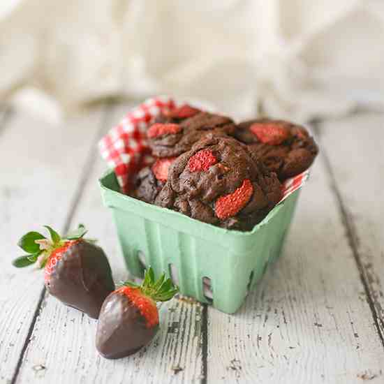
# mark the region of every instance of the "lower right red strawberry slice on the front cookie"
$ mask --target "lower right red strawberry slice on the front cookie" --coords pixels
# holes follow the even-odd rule
[[[244,179],[242,185],[235,192],[221,196],[216,200],[215,212],[219,219],[224,220],[235,216],[251,199],[253,185],[249,179]]]

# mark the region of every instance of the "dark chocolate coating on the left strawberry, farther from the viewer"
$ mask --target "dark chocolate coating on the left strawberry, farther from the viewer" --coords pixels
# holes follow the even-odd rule
[[[98,318],[105,297],[115,290],[103,249],[83,239],[61,256],[46,286],[52,296],[91,318]]]

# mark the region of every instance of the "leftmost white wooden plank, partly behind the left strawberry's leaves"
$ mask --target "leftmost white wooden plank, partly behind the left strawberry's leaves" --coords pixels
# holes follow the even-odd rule
[[[32,228],[66,226],[103,110],[53,126],[15,112],[0,136],[0,383],[13,380],[38,316],[43,275],[15,269],[17,239]],[[93,149],[92,149],[93,150]]]

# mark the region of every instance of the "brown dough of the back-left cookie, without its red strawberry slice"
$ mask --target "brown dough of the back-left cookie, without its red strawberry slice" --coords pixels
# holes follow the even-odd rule
[[[161,121],[161,119],[158,120]],[[148,140],[154,156],[179,156],[179,154],[189,151],[192,145],[207,133],[214,133],[214,135],[219,136],[233,133],[236,129],[235,124],[229,117],[214,115],[209,112],[200,112],[193,117],[184,119],[179,124],[182,131]]]

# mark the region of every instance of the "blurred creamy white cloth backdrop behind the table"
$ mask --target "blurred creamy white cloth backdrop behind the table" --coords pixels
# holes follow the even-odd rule
[[[304,121],[383,107],[383,0],[1,0],[0,102],[173,94]]]

